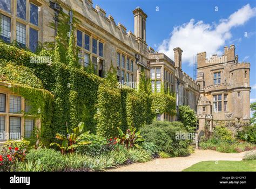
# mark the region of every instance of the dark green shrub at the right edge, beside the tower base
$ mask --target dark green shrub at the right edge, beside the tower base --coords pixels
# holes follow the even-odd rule
[[[237,138],[256,144],[256,126],[245,126],[241,131],[237,131]]]

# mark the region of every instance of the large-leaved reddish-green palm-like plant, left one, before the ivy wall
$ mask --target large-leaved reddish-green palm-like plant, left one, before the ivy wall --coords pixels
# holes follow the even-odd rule
[[[83,137],[88,135],[90,131],[83,132],[83,129],[84,123],[80,122],[78,124],[78,127],[72,129],[71,133],[69,133],[69,130],[67,129],[67,136],[57,133],[56,138],[60,139],[62,141],[62,144],[53,142],[50,144],[50,146],[57,145],[60,148],[62,154],[64,154],[66,152],[74,152],[75,148],[77,148],[78,146],[90,144],[91,141],[83,141]]]

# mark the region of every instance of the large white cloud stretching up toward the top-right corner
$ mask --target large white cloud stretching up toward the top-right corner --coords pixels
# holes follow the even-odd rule
[[[256,7],[251,8],[250,4],[247,4],[227,19],[219,20],[218,24],[191,19],[188,23],[174,27],[170,37],[159,45],[158,52],[163,52],[173,59],[173,48],[180,47],[183,50],[183,62],[190,62],[190,65],[193,64],[194,54],[199,52],[206,51],[207,57],[215,53],[221,54],[225,42],[232,38],[232,27],[245,24],[255,15]]]

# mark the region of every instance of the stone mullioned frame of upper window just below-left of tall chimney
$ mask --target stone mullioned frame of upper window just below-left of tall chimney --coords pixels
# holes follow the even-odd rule
[[[119,82],[122,83],[122,71],[124,71],[124,82],[127,82],[127,77],[126,75],[129,74],[129,82],[134,82],[134,76],[136,75],[135,72],[134,72],[134,62],[135,60],[131,57],[131,55],[128,55],[127,53],[119,50],[119,49],[116,49],[116,57],[118,57],[118,54],[120,55],[120,65],[117,64],[117,60],[116,60],[116,66],[117,66],[117,78],[119,78]],[[124,56],[124,67],[122,66],[122,56]],[[130,60],[130,66],[129,68],[130,69],[127,69],[127,58],[129,58]],[[133,71],[131,70],[131,62],[133,62]],[[133,78],[133,81],[131,81]],[[128,83],[126,83],[127,85]],[[122,83],[123,85],[123,83]],[[131,88],[134,88],[136,85],[129,85]]]

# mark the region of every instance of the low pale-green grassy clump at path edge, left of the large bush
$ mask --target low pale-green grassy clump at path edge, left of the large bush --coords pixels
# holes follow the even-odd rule
[[[128,157],[130,162],[140,162],[140,163],[144,163],[152,159],[151,154],[142,149],[129,149]]]

